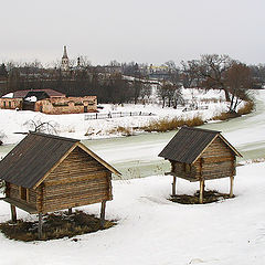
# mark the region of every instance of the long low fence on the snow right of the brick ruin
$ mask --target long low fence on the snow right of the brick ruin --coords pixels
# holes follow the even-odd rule
[[[116,112],[116,113],[107,113],[107,114],[92,113],[92,114],[85,115],[85,120],[132,117],[132,116],[153,116],[153,114],[152,113],[142,113],[142,112],[128,112],[128,113]]]

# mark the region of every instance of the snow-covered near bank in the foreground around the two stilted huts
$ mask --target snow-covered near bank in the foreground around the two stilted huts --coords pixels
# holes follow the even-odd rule
[[[0,234],[0,264],[34,265],[263,265],[265,264],[265,163],[237,168],[235,198],[203,205],[167,200],[170,177],[113,181],[114,200],[106,216],[116,226],[92,234],[47,242],[22,243]],[[206,181],[206,188],[229,191],[229,179]],[[178,180],[179,193],[198,183]],[[0,221],[10,208],[0,202]],[[98,214],[99,204],[83,210]],[[30,219],[23,211],[19,218]]]

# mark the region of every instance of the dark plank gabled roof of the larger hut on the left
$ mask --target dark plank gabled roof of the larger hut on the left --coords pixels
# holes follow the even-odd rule
[[[81,147],[113,173],[120,174],[80,140],[30,132],[0,162],[0,179],[24,188],[36,188],[76,147]]]

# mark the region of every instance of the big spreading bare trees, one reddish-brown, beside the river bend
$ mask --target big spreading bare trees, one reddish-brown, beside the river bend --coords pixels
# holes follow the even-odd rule
[[[204,54],[181,65],[184,86],[224,91],[232,113],[242,100],[248,99],[254,86],[251,67],[229,55]]]

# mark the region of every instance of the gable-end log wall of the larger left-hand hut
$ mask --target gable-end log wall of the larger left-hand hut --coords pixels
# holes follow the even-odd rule
[[[38,209],[44,213],[112,200],[110,178],[109,170],[77,147],[44,180]]]

